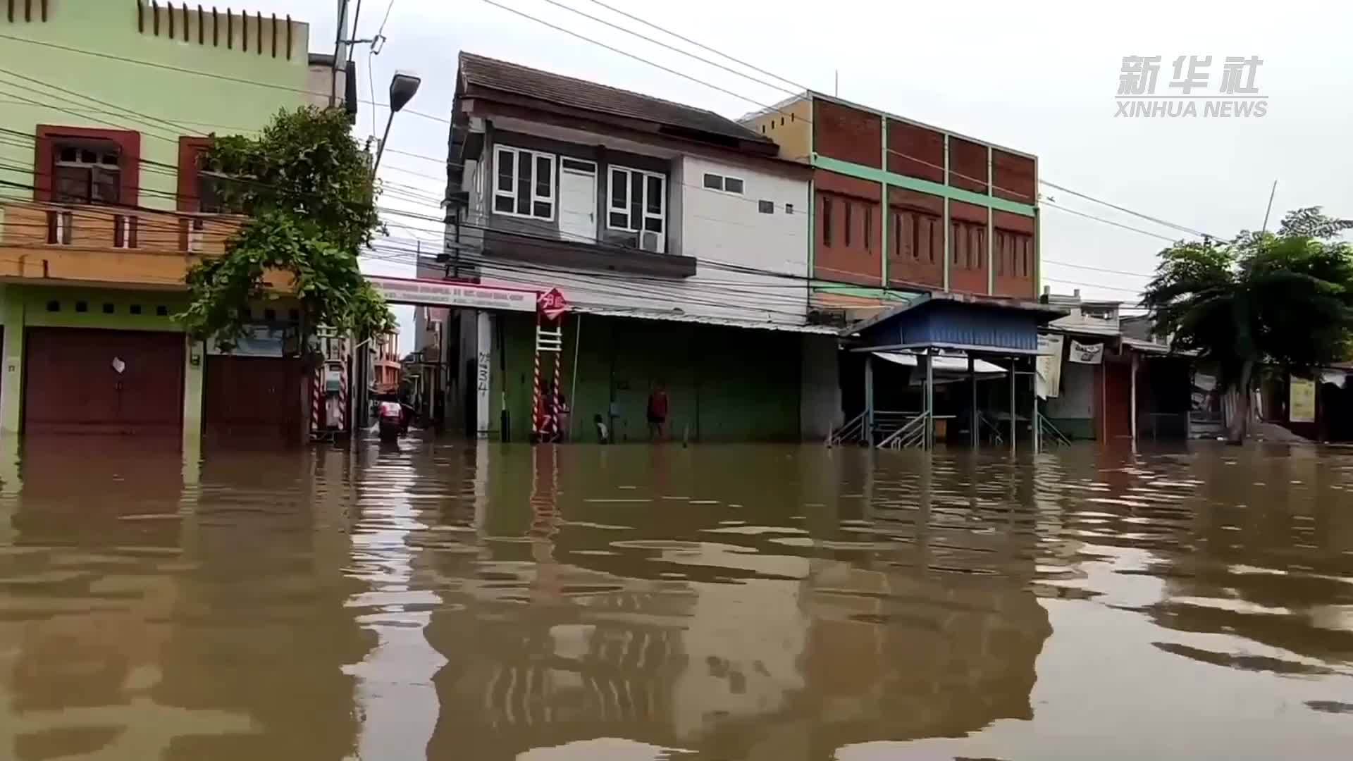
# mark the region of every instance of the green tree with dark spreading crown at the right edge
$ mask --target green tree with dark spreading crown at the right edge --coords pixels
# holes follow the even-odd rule
[[[1142,299],[1151,329],[1215,362],[1219,387],[1239,391],[1233,443],[1245,437],[1262,364],[1308,372],[1348,359],[1353,246],[1341,236],[1350,227],[1319,207],[1299,209],[1277,233],[1246,230],[1229,242],[1204,238],[1161,252]]]

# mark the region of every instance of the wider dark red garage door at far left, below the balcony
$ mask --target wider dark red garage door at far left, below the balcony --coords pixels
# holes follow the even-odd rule
[[[24,353],[27,433],[183,431],[181,333],[30,328]]]

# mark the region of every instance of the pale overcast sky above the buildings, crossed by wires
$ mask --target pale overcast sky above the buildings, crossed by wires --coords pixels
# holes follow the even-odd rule
[[[262,0],[256,0],[261,3]],[[599,45],[548,28],[487,0],[394,0],[388,42],[367,69],[359,49],[361,96],[386,100],[395,69],[423,79],[410,108],[445,118],[461,50],[594,80],[736,118],[786,96],[717,68],[664,50],[571,14],[548,0],[492,0],[591,39],[635,53],[710,87],[633,61]],[[909,119],[951,129],[1039,157],[1039,176],[1074,191],[1189,229],[1230,237],[1264,219],[1269,188],[1279,181],[1275,218],[1300,206],[1353,215],[1353,4],[1289,0],[1134,0],[1124,3],[970,0],[961,5],[833,0],[774,4],[764,0],[603,0],[789,81],[832,92]],[[356,3],[356,0],[353,0]],[[371,37],[390,0],[364,0],[360,37]],[[660,32],[618,16],[591,0],[559,0],[586,14]],[[273,0],[265,11],[290,12],[311,23],[311,49],[333,39],[337,0]],[[687,47],[679,41],[666,42]],[[331,47],[330,47],[331,49]],[[708,53],[691,49],[704,57]],[[1226,57],[1258,56],[1256,87],[1268,96],[1262,118],[1116,118],[1115,95],[1124,56],[1161,56],[1155,92],[1168,83],[1177,56],[1211,56],[1207,91],[1220,84]],[[727,61],[725,61],[727,62]],[[755,72],[750,72],[755,74]],[[766,79],[760,74],[755,74]],[[792,89],[792,85],[786,85]],[[1197,92],[1197,91],[1195,91]],[[372,131],[386,112],[361,104],[357,133]],[[1199,104],[1201,114],[1201,104]],[[444,158],[444,122],[400,114],[390,150]],[[442,194],[438,162],[387,153],[387,183]],[[425,176],[419,176],[425,175]],[[1045,200],[1166,237],[1174,230],[1043,187]],[[407,196],[406,196],[407,198]],[[387,203],[395,206],[394,194]],[[417,200],[406,203],[417,204]],[[1043,280],[1054,291],[1132,301],[1168,241],[1045,207]],[[436,207],[423,206],[436,215]],[[407,221],[438,245],[433,222]],[[391,234],[415,233],[394,227]],[[1080,267],[1072,267],[1076,264]],[[1088,268],[1099,269],[1088,269]],[[388,268],[396,274],[399,265]],[[405,268],[405,274],[411,269]],[[406,339],[407,340],[407,339]]]

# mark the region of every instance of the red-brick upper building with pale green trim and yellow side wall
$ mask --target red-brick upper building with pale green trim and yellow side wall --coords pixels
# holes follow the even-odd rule
[[[1038,295],[1038,158],[817,92],[743,123],[810,164],[812,303]]]

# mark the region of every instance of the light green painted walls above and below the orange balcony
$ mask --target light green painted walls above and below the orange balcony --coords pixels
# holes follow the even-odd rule
[[[279,19],[279,53],[273,58],[269,19],[264,20],[265,47],[261,54],[257,51],[253,19],[245,27],[250,31],[248,49],[242,46],[238,15],[231,24],[233,47],[227,47],[225,7],[221,7],[218,46],[212,46],[210,8],[207,5],[206,43],[199,45],[196,5],[189,12],[188,42],[183,39],[181,4],[176,11],[177,34],[173,38],[168,34],[168,16],[162,3],[160,37],[152,32],[149,7],[145,12],[146,31],[138,31],[137,4],[131,0],[60,0],[49,4],[46,23],[23,23],[20,7],[20,20],[0,26],[0,34],[18,38],[0,38],[0,68],[15,74],[5,74],[4,84],[0,85],[0,130],[11,130],[0,131],[0,198],[32,198],[32,191],[28,190],[35,184],[31,135],[38,125],[60,125],[141,133],[143,161],[139,167],[138,204],[175,209],[177,172],[170,167],[179,164],[180,137],[256,133],[279,110],[295,108],[313,100],[304,92],[315,89],[307,81],[307,24],[292,24],[292,53],[288,60],[287,27]],[[53,46],[244,81],[195,76]],[[169,314],[173,314],[184,303],[183,294],[168,291],[101,291],[78,287],[7,286],[5,297],[0,306],[7,325],[4,378],[0,383],[0,429],[7,432],[19,431],[23,417],[20,390],[24,325],[180,332],[177,324],[168,317],[157,316],[156,307],[168,306]],[[62,302],[60,313],[47,311],[46,303],[51,299]],[[87,301],[89,311],[76,313],[76,301]],[[103,311],[104,303],[115,305],[114,314]],[[129,307],[134,303],[142,305],[141,316],[130,313]],[[191,345],[185,357],[185,451],[198,445],[202,432],[202,345]],[[196,364],[193,357],[199,360]]]

